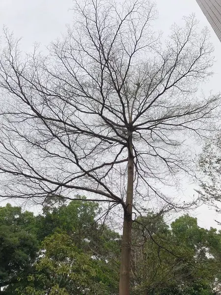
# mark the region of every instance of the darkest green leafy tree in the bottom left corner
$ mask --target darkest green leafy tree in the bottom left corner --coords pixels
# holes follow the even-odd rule
[[[17,286],[26,285],[37,250],[35,235],[19,227],[0,225],[0,294],[13,294]]]

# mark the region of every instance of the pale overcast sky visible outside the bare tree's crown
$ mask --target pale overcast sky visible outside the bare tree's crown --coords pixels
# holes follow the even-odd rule
[[[199,27],[207,26],[211,31],[211,42],[215,47],[214,76],[203,85],[203,91],[213,93],[221,91],[221,42],[210,27],[205,16],[195,0],[156,0],[159,10],[159,19],[156,29],[164,31],[166,36],[170,26],[176,22],[182,25],[182,17],[195,13],[200,21]],[[0,0],[0,28],[4,25],[14,32],[16,37],[22,37],[21,48],[28,52],[32,50],[34,42],[47,46],[52,40],[59,37],[70,24],[74,14],[70,8],[72,0]],[[195,186],[187,184],[183,192],[184,197],[194,194]],[[218,227],[214,219],[221,221],[221,214],[217,214],[206,206],[192,212],[198,218],[199,226],[209,228]]]

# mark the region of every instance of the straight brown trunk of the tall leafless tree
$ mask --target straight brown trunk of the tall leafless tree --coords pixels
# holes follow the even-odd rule
[[[124,211],[124,222],[123,222],[119,295],[130,295],[133,191],[134,191],[134,156],[133,156],[132,134],[131,134],[129,138],[129,147],[128,147],[128,180],[127,180],[126,210]]]

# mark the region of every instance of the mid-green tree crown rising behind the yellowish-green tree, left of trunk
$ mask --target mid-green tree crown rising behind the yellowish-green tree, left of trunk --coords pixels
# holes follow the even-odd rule
[[[82,197],[83,198],[83,197]],[[67,233],[75,245],[102,259],[119,256],[120,235],[105,224],[96,222],[99,218],[98,203],[72,201],[68,205],[49,207],[37,216],[38,238],[54,233]]]

